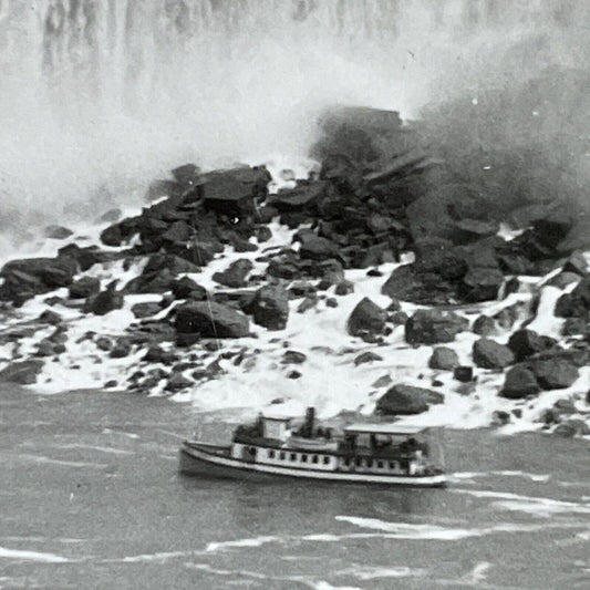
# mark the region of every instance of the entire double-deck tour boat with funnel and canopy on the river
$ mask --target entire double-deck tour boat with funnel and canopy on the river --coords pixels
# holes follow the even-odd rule
[[[217,477],[300,477],[343,483],[445,485],[428,428],[360,423],[317,427],[313,408],[299,428],[291,418],[259,416],[239,426],[230,445],[186,441],[180,469]]]

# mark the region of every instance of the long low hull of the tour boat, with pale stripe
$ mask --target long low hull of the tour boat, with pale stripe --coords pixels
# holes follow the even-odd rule
[[[207,448],[209,446],[209,448]],[[184,443],[180,448],[180,472],[216,478],[275,479],[300,478],[345,484],[379,484],[385,486],[443,487],[444,474],[437,475],[393,475],[370,474],[344,470],[325,470],[301,467],[282,467],[265,463],[246,462],[216,453],[222,447],[201,443]]]

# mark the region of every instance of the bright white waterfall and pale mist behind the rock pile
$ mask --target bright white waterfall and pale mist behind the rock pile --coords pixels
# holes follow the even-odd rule
[[[541,0],[0,0],[2,226],[96,214],[185,159],[304,156],[328,104],[412,116],[500,74],[575,62],[566,42],[577,46],[571,25],[588,12]]]

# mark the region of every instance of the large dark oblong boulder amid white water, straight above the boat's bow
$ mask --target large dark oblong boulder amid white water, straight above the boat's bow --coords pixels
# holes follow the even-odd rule
[[[176,308],[175,328],[178,333],[198,332],[205,338],[244,338],[250,331],[247,315],[213,301]]]

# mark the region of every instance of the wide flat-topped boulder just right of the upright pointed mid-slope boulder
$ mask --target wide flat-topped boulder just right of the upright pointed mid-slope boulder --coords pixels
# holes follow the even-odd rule
[[[452,342],[468,325],[468,320],[452,311],[418,310],[405,323],[405,339],[410,344]]]

